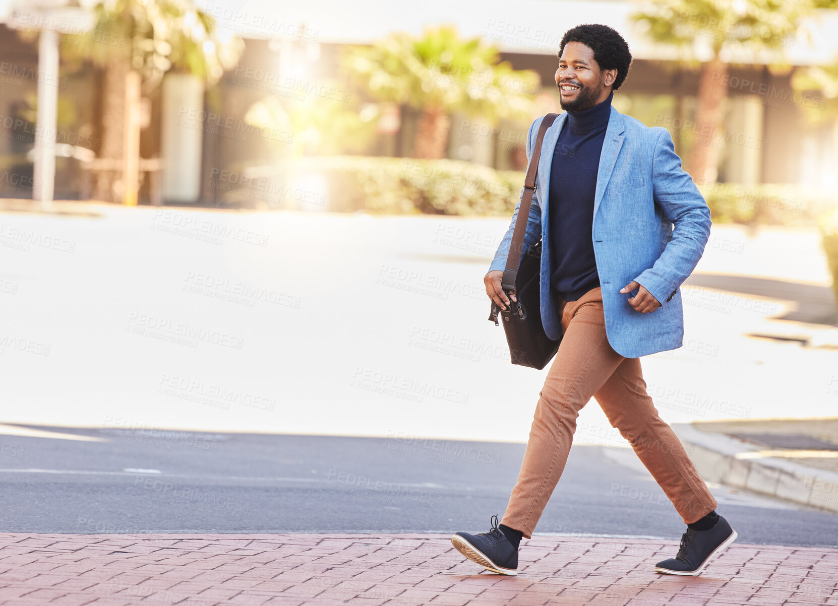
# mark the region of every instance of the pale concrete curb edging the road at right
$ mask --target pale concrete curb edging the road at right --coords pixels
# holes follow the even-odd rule
[[[838,512],[838,473],[786,459],[743,457],[761,449],[724,434],[701,431],[690,423],[673,424],[672,429],[706,481]]]

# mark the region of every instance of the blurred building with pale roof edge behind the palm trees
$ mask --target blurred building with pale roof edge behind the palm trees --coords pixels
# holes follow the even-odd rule
[[[323,9],[324,4],[328,4],[328,10]],[[344,45],[369,44],[392,30],[418,35],[423,24],[456,24],[464,37],[479,34],[492,39],[502,49],[503,59],[516,69],[535,69],[541,75],[542,92],[547,95],[542,113],[559,110],[553,76],[562,33],[577,23],[611,25],[628,39],[634,54],[629,79],[615,95],[614,105],[649,126],[668,128],[682,157],[694,139],[691,129],[699,73],[697,69],[680,68],[669,49],[651,44],[637,33],[629,20],[629,13],[636,8],[634,3],[565,0],[473,4],[470,8],[453,3],[416,3],[386,13],[370,11],[363,18],[359,17],[359,8],[345,3],[296,7],[294,18],[273,17],[277,8],[269,3],[262,8],[255,3],[246,6],[249,13],[232,3],[207,8],[220,28],[246,40],[246,50],[240,64],[198,98],[198,106],[181,102],[169,104],[164,110],[164,88],[148,97],[148,126],[142,130],[141,156],[159,157],[163,146],[168,145],[191,150],[182,151],[180,157],[175,154],[169,162],[184,162],[184,167],[197,162],[197,172],[193,171],[194,177],[189,179],[199,182],[182,188],[194,191],[196,195],[188,196],[194,200],[180,202],[219,204],[230,182],[235,185],[236,180],[259,174],[263,168],[269,171],[277,162],[277,146],[288,145],[291,137],[298,135],[260,131],[249,125],[245,116],[256,101],[266,97],[313,100],[328,96],[335,103],[345,103],[350,91],[334,84],[341,81],[339,55]],[[731,64],[725,76],[728,97],[724,130],[728,143],[722,151],[720,181],[838,186],[834,170],[838,166],[838,121],[833,116],[818,126],[809,126],[807,111],[818,110],[824,100],[817,95],[802,95],[791,85],[795,69],[828,64],[838,57],[838,37],[834,35],[838,31],[838,11],[833,13],[835,16],[825,18],[823,23],[813,23],[810,44],[799,39],[789,45],[788,69],[773,69],[761,64],[758,57],[743,54],[730,58],[741,64]],[[0,197],[30,198],[32,193],[28,151],[34,144],[37,48],[37,39],[22,39],[17,31],[0,24]],[[283,74],[292,74],[292,78]],[[68,67],[56,82],[56,198],[91,195],[91,170],[85,168],[85,158],[96,154],[101,139],[102,78],[101,70],[88,64],[81,69]],[[409,156],[416,120],[416,113],[408,107],[385,108],[385,116],[380,118],[383,126],[366,153]],[[453,116],[447,155],[499,169],[522,169],[525,127],[522,130],[521,125],[501,123],[493,128]],[[183,136],[191,137],[194,145],[178,148],[178,139]],[[284,140],[286,136],[288,141]],[[174,191],[173,186],[164,183],[164,190],[166,187],[168,192]],[[163,193],[164,201],[172,201],[173,193]],[[147,201],[151,195],[150,179],[146,178],[141,200]]]

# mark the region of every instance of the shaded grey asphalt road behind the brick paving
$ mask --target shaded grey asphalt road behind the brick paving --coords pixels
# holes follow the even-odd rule
[[[504,511],[525,449],[277,434],[63,432],[65,439],[0,436],[0,532],[484,532],[489,516]],[[838,543],[835,515],[711,488],[742,542]],[[577,445],[537,532],[677,539],[683,525],[633,453]]]

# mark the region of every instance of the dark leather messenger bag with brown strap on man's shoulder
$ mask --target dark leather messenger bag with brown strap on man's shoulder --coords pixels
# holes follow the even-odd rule
[[[535,173],[541,157],[541,141],[544,133],[556,120],[558,114],[547,114],[538,129],[538,138],[530,157],[524,182],[524,195],[521,197],[518,216],[515,218],[515,230],[512,233],[510,252],[506,257],[506,269],[501,280],[507,295],[515,292],[517,301],[510,299],[510,306],[504,311],[492,301],[489,320],[499,324],[498,316],[503,318],[506,342],[510,346],[510,358],[513,364],[541,370],[556,355],[561,342],[553,341],[541,324],[541,240],[526,254],[521,255],[524,245],[526,223],[530,218],[532,194],[535,193]]]

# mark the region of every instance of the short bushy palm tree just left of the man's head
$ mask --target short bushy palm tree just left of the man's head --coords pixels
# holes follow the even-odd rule
[[[427,28],[421,39],[392,33],[370,47],[355,47],[344,68],[380,101],[410,105],[421,112],[414,155],[442,158],[448,141],[449,115],[530,119],[538,74],[499,62],[496,47],[481,37],[462,40],[456,28]]]

